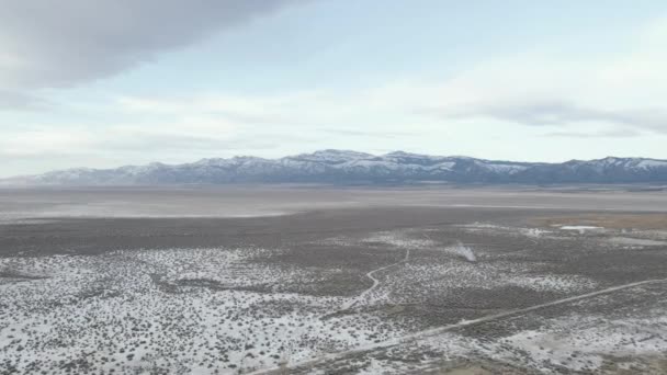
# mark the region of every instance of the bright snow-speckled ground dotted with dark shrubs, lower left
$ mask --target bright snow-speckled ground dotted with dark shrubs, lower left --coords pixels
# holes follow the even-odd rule
[[[321,275],[250,263],[274,251],[0,259],[0,363],[20,373],[231,373],[403,334],[365,314],[323,319],[342,298],[280,292]]]

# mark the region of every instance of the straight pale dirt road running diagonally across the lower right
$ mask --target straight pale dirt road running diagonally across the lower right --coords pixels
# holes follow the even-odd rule
[[[392,265],[395,265],[395,264],[392,264]],[[389,340],[382,341],[382,342],[376,342],[376,343],[372,343],[372,344],[368,344],[368,345],[360,345],[360,346],[357,346],[354,349],[350,349],[350,350],[342,351],[342,352],[324,354],[324,355],[321,355],[321,356],[319,356],[317,359],[314,359],[314,360],[306,360],[306,361],[293,363],[293,364],[291,364],[290,367],[291,368],[296,368],[296,367],[301,367],[301,366],[313,366],[313,365],[317,365],[319,363],[324,363],[324,362],[328,362],[328,361],[340,360],[340,359],[343,359],[343,357],[352,355],[352,354],[363,353],[363,352],[366,352],[366,351],[370,351],[370,350],[373,350],[373,349],[394,346],[394,345],[397,345],[399,343],[411,342],[411,341],[416,341],[418,339],[422,339],[422,338],[427,338],[427,337],[444,333],[444,332],[452,331],[452,330],[455,330],[455,329],[459,329],[459,328],[463,328],[463,327],[476,326],[476,325],[488,322],[488,321],[493,321],[493,320],[504,319],[504,318],[507,318],[507,317],[510,317],[510,316],[516,316],[516,315],[521,315],[521,314],[525,314],[525,312],[531,312],[531,311],[539,310],[539,309],[542,309],[542,308],[545,308],[545,307],[552,307],[552,306],[557,306],[557,305],[563,305],[563,304],[568,304],[568,303],[577,302],[577,300],[588,299],[588,298],[597,297],[597,296],[600,296],[600,295],[610,294],[610,293],[614,293],[614,292],[618,292],[618,291],[623,291],[623,289],[632,288],[632,287],[635,287],[635,286],[648,285],[648,284],[657,284],[657,283],[665,283],[665,282],[667,282],[667,279],[656,279],[656,280],[645,280],[645,281],[634,282],[634,283],[630,283],[630,284],[611,286],[611,287],[608,287],[608,288],[604,288],[604,289],[600,289],[600,291],[591,292],[591,293],[586,293],[586,294],[581,294],[581,295],[574,296],[574,297],[567,297],[567,298],[556,299],[556,300],[552,300],[550,303],[534,305],[534,306],[531,306],[531,307],[518,308],[518,309],[507,310],[507,311],[504,311],[504,312],[487,315],[487,316],[478,318],[478,319],[463,320],[463,321],[457,322],[457,323],[442,326],[442,327],[437,327],[437,328],[432,328],[432,329],[428,329],[428,330],[423,330],[423,331],[419,331],[419,332],[415,332],[415,333],[409,333],[409,334],[406,334],[406,336],[403,336],[403,337],[399,337],[399,338],[394,338],[394,339],[389,339]],[[264,370],[259,370],[259,371],[251,372],[251,373],[248,373],[248,374],[253,374],[253,375],[258,375],[258,374],[272,374],[272,373],[275,373],[279,370],[280,368],[278,368],[278,367],[264,368]]]

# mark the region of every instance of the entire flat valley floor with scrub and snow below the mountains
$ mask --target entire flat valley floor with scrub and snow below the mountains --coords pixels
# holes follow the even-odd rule
[[[0,190],[0,374],[666,374],[667,192]]]

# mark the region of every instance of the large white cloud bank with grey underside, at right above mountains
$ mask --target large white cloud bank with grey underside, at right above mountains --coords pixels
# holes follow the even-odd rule
[[[416,112],[448,121],[561,128],[603,123],[667,134],[665,45],[667,18],[656,19],[615,54],[498,57],[421,92],[412,89],[410,96],[418,100]]]

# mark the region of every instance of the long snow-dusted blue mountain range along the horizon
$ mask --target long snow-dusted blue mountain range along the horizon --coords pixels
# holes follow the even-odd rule
[[[4,183],[125,185],[244,182],[402,183],[632,183],[667,182],[667,160],[604,158],[564,163],[438,157],[403,151],[375,156],[321,150],[280,159],[234,157],[185,164],[150,163],[116,169],[78,168]]]

